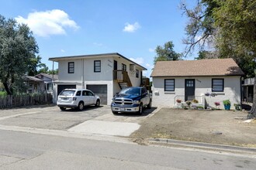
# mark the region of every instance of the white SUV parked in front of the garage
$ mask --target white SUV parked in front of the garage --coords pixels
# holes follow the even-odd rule
[[[65,89],[61,91],[57,98],[57,106],[61,110],[65,110],[66,108],[83,110],[85,106],[93,104],[99,107],[100,98],[91,90],[87,89]]]

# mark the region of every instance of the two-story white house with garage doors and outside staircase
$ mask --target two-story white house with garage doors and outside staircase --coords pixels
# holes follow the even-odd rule
[[[123,87],[142,84],[144,66],[119,53],[50,58],[58,63],[58,80],[54,81],[54,102],[66,88],[86,88],[101,97],[102,104],[111,104],[112,97]]]

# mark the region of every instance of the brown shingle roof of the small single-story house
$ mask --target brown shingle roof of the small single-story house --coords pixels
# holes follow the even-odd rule
[[[150,76],[242,76],[234,59],[158,61]]]

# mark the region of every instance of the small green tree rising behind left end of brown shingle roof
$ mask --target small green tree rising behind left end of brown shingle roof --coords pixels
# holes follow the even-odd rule
[[[164,43],[164,46],[157,46],[155,49],[157,56],[154,57],[154,64],[157,63],[157,61],[180,59],[182,55],[180,53],[176,53],[173,49],[174,47],[175,46],[171,41]]]

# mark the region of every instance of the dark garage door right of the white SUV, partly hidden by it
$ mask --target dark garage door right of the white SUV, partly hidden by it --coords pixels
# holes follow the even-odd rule
[[[87,85],[86,88],[88,90],[92,90],[93,93],[97,94],[100,99],[102,104],[107,104],[108,100],[108,86],[106,84],[95,84],[95,85]]]

